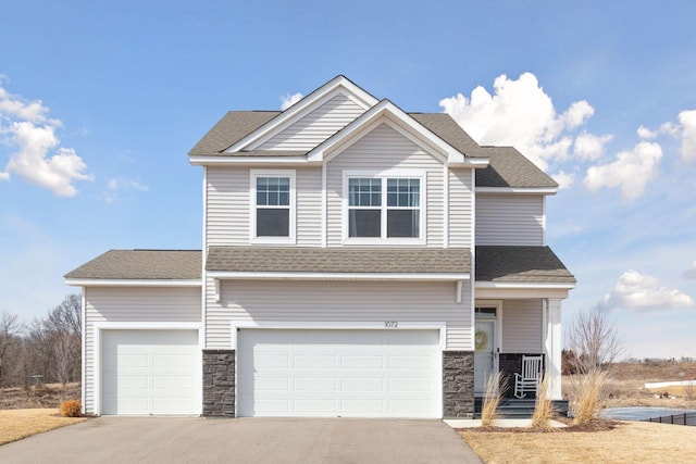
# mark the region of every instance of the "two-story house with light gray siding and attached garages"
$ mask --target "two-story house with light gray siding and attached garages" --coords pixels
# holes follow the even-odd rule
[[[83,288],[87,413],[470,417],[543,354],[560,399],[557,184],[344,76],[194,147],[202,251],[112,250]]]

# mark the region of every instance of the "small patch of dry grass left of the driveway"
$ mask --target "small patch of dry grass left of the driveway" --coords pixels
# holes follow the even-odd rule
[[[2,410],[0,411],[0,444],[83,421],[87,418],[60,417],[57,409]]]

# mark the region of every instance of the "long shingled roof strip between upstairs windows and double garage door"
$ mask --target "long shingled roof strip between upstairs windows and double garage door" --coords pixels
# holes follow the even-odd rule
[[[211,247],[207,271],[236,273],[406,273],[471,272],[468,248],[281,248]]]

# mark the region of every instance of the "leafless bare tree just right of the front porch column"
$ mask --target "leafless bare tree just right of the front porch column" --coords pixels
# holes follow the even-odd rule
[[[568,362],[577,374],[610,366],[623,354],[623,344],[601,306],[581,311],[566,330]]]

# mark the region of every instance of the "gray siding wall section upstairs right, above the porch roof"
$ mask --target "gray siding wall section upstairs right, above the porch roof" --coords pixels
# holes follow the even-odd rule
[[[544,244],[544,197],[476,195],[476,244]]]

